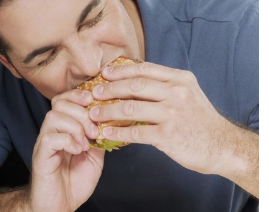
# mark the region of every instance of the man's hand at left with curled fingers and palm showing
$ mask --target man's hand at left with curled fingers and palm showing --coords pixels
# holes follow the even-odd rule
[[[32,211],[75,211],[93,193],[104,151],[89,147],[98,129],[84,106],[90,92],[68,91],[52,100],[33,153],[30,189]]]

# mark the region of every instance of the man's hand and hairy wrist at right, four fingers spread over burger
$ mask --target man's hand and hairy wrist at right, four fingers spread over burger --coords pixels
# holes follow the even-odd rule
[[[153,145],[188,169],[222,175],[257,196],[258,136],[222,117],[191,72],[141,63],[109,67],[103,76],[112,82],[93,96],[126,101],[92,108],[92,120],[151,123],[105,128],[107,139]]]

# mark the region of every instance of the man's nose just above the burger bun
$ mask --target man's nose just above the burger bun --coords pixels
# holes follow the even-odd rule
[[[77,37],[69,42],[69,71],[76,78],[96,76],[102,66],[103,52],[101,47],[90,39]]]

